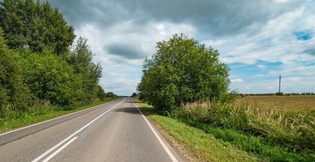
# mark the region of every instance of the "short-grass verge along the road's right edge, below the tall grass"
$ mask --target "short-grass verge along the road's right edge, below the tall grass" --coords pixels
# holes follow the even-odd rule
[[[260,161],[251,154],[235,148],[229,142],[215,138],[197,128],[188,126],[170,117],[159,115],[152,106],[133,98],[141,111],[162,130],[172,136],[194,157],[202,161],[255,162]]]

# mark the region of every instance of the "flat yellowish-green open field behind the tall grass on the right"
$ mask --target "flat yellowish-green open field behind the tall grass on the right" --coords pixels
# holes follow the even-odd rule
[[[236,105],[257,104],[260,108],[284,111],[315,111],[315,96],[249,96],[241,97]]]

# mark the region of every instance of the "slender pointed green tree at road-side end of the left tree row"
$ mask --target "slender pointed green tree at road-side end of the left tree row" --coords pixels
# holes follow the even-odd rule
[[[100,63],[95,64],[93,62],[93,56],[87,39],[80,36],[67,59],[73,67],[74,73],[82,79],[83,95],[81,101],[83,103],[89,103],[97,98],[95,87],[102,77],[102,67]]]

